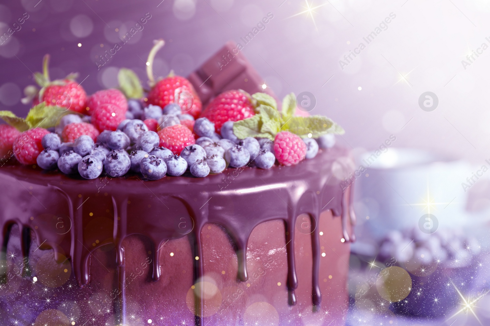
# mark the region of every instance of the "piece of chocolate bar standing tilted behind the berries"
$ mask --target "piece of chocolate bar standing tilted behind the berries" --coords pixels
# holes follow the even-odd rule
[[[264,79],[245,59],[237,44],[229,41],[188,77],[196,88],[203,105],[229,89],[243,89],[250,94],[266,92],[275,98],[270,88],[263,89]]]

